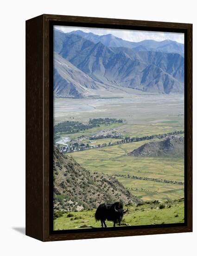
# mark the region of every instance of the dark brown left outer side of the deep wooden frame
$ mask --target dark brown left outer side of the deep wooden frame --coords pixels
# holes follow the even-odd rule
[[[43,241],[43,15],[26,20],[25,234]]]

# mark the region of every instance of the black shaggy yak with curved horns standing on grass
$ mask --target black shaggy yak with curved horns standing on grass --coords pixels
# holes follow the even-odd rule
[[[128,208],[126,211],[123,210],[122,202],[115,202],[113,204],[102,203],[96,209],[95,220],[101,221],[102,228],[103,228],[103,224],[105,228],[107,228],[107,225],[105,223],[106,220],[113,221],[114,227],[115,227],[115,223],[118,223],[120,226],[123,214],[126,213],[127,211],[128,211]]]

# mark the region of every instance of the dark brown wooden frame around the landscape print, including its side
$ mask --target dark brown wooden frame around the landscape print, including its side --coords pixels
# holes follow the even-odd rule
[[[51,229],[53,59],[51,26],[102,27],[184,33],[185,220],[182,224]],[[43,14],[26,21],[26,235],[41,241],[138,236],[192,231],[192,24]]]

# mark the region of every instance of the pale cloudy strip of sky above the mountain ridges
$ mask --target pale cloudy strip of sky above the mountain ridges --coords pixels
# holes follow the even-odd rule
[[[74,30],[82,30],[83,32],[92,32],[94,34],[113,34],[123,40],[140,42],[146,39],[153,39],[156,41],[163,41],[166,39],[174,40],[179,43],[184,43],[183,33],[169,33],[169,32],[149,32],[139,30],[125,30],[125,29],[109,29],[109,28],[91,28],[91,27],[66,27],[66,26],[55,26],[55,28],[68,33]]]

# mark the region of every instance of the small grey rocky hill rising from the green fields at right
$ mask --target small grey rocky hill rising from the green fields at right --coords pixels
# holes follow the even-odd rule
[[[184,157],[184,138],[171,136],[164,141],[154,141],[134,149],[130,156]]]

